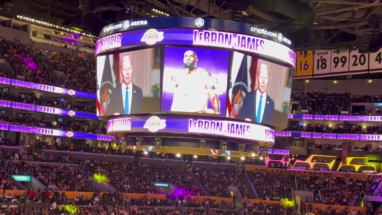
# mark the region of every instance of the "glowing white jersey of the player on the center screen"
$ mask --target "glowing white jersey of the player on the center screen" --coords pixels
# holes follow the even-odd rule
[[[211,90],[212,77],[201,68],[192,73],[181,73],[176,76],[175,90],[171,111],[200,112],[207,109],[208,93]]]

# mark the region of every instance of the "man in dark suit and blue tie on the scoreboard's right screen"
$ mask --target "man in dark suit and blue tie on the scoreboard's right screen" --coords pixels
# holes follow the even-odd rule
[[[272,125],[275,103],[267,94],[269,68],[261,64],[257,68],[257,89],[246,94],[239,112],[239,119]]]

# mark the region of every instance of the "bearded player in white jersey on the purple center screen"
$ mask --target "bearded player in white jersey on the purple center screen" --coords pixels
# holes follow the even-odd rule
[[[220,114],[220,101],[215,93],[216,80],[211,73],[197,67],[198,61],[194,51],[185,52],[185,70],[179,71],[173,79],[175,90],[171,111]],[[212,109],[208,108],[209,103]]]

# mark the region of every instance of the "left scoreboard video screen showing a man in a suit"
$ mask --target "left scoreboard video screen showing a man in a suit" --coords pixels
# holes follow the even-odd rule
[[[160,50],[97,57],[97,116],[160,111]]]

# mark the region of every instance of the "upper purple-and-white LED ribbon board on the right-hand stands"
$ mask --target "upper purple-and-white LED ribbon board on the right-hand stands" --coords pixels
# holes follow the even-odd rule
[[[319,115],[319,114],[289,114],[289,119],[315,119],[332,121],[369,121],[381,122],[382,116],[345,116],[345,115]]]

